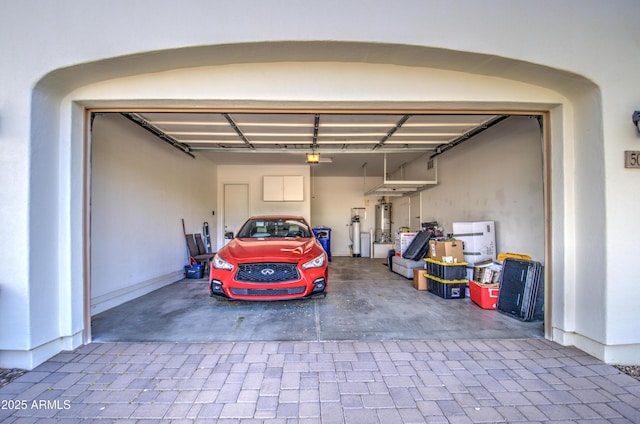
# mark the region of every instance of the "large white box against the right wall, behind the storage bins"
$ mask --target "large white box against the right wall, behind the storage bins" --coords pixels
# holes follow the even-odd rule
[[[463,243],[465,262],[475,264],[496,259],[494,221],[454,222],[453,237]]]

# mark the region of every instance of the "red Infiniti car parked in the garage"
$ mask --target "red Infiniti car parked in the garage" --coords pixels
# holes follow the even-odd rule
[[[299,216],[256,216],[211,262],[209,293],[228,299],[324,297],[327,254]]]

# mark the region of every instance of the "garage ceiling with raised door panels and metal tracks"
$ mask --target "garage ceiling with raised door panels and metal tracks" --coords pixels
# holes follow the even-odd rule
[[[302,165],[315,176],[383,176],[425,153],[464,141],[504,119],[480,114],[122,113],[157,136],[220,164]],[[366,168],[366,169],[364,169]]]

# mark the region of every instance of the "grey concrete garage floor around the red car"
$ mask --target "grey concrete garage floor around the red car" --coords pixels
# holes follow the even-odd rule
[[[334,257],[325,299],[216,300],[182,280],[93,317],[95,342],[377,341],[542,338],[465,299],[442,299],[389,272],[385,259]]]

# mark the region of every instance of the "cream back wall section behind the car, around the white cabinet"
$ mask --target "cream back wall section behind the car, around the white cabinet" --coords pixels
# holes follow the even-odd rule
[[[304,200],[301,202],[265,202],[262,200],[263,177],[265,175],[302,175],[304,185]],[[218,165],[217,180],[218,210],[224,210],[224,184],[248,184],[249,185],[249,215],[297,215],[304,217],[307,222],[311,217],[311,190],[310,190],[309,165]],[[223,228],[224,217],[217,214],[218,228]],[[235,232],[235,231],[234,231]],[[224,244],[224,231],[220,231],[216,240],[218,248]]]

